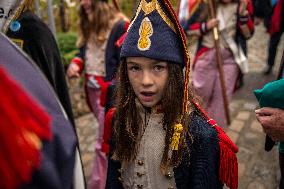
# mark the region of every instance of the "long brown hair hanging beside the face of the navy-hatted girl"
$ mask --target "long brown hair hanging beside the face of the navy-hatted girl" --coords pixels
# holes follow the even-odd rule
[[[161,168],[169,165],[176,166],[180,163],[185,145],[182,144],[178,151],[173,152],[169,159],[169,144],[173,135],[173,126],[177,123],[182,113],[183,103],[183,69],[177,64],[168,63],[169,78],[161,105],[164,114],[163,128],[166,130],[165,147],[161,161]],[[122,61],[118,72],[118,85],[116,88],[115,106],[116,115],[114,123],[115,151],[114,159],[131,162],[135,160],[138,152],[139,134],[141,132],[141,117],[135,104],[135,93],[128,79],[127,63]],[[190,93],[191,94],[191,93]],[[190,99],[192,97],[190,96]],[[188,116],[182,120],[183,124],[188,124]],[[184,140],[180,140],[183,141]]]

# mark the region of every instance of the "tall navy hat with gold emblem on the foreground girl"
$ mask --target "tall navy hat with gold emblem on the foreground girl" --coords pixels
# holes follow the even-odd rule
[[[188,61],[184,36],[168,0],[141,0],[120,56],[142,56],[184,66]]]

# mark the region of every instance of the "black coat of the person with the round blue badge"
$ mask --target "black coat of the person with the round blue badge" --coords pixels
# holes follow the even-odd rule
[[[44,73],[70,121],[75,125],[64,68],[53,34],[47,25],[29,10],[21,13],[17,21],[21,24],[20,29],[12,31],[9,28],[6,35],[11,39],[23,41],[23,50]]]

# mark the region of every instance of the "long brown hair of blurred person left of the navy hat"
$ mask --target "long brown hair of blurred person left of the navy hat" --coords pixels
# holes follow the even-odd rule
[[[88,18],[84,8],[79,9],[79,36],[76,42],[81,47],[89,40],[101,44],[107,39],[107,31],[110,29],[111,20],[114,19],[116,9],[104,1],[92,0],[92,15]]]

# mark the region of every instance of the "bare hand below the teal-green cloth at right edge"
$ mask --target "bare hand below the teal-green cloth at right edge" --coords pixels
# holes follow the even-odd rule
[[[265,107],[255,110],[255,114],[266,134],[273,140],[284,141],[284,110]]]

